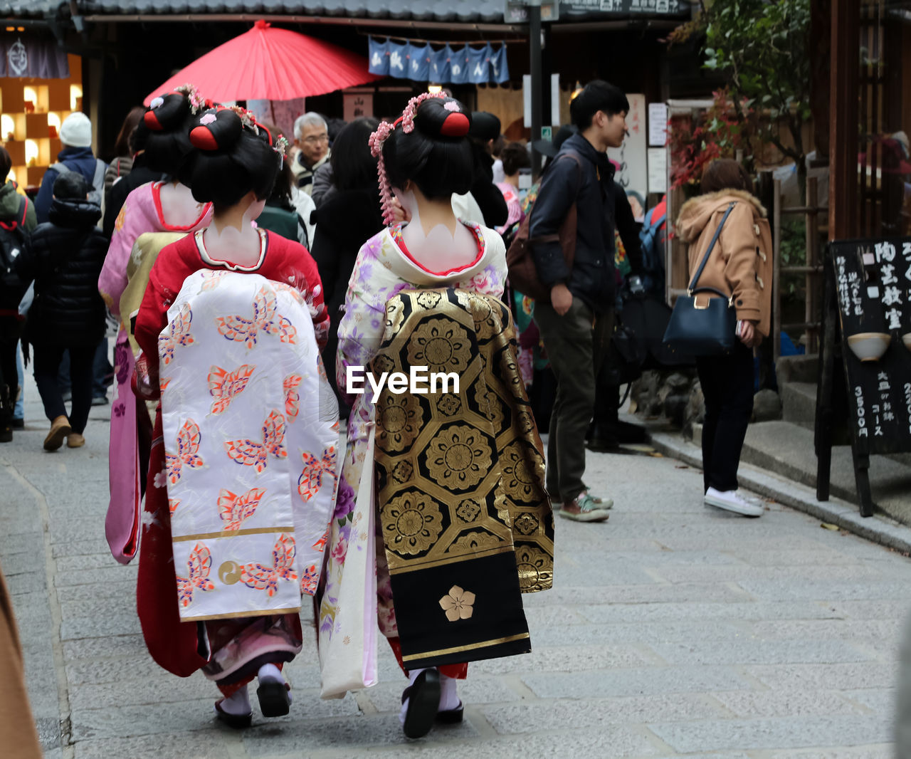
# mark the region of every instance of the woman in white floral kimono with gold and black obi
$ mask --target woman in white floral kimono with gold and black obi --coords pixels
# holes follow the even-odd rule
[[[466,662],[531,650],[521,593],[552,583],[542,448],[498,300],[503,241],[456,219],[451,204],[472,181],[469,128],[458,101],[424,95],[374,133],[392,226],[358,254],[339,327],[338,382],[352,405],[343,472],[357,498],[336,513],[326,552],[323,696],[375,682],[375,609],[410,680],[401,720],[412,738],[462,719],[455,686]],[[398,207],[407,223],[393,224]],[[414,393],[386,385],[374,398],[348,381],[360,367],[376,379],[450,378]],[[371,572],[345,563],[372,549],[375,594]],[[353,597],[365,578],[367,592]],[[347,676],[339,641],[361,654]]]

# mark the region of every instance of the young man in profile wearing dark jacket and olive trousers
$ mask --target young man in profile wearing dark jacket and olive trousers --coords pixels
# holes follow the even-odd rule
[[[614,168],[606,151],[626,134],[630,103],[618,87],[596,80],[570,105],[578,134],[563,143],[541,180],[528,238],[550,303],[535,303],[535,322],[557,375],[548,439],[547,487],[562,517],[604,521],[613,501],[593,497],[582,481],[585,436],[598,376],[613,328]],[[568,267],[558,232],[576,204],[576,254]]]

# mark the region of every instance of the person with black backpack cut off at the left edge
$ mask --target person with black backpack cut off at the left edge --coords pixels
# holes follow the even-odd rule
[[[0,148],[0,176],[7,177],[12,165],[9,153]],[[16,192],[15,182],[10,180],[0,186],[0,443],[13,439],[18,388],[15,358],[23,324],[19,301],[28,287],[15,272],[15,260],[25,251],[28,232],[35,223],[35,206]]]

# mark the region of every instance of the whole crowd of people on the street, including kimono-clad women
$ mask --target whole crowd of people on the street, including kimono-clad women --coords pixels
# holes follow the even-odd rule
[[[188,86],[132,109],[109,165],[73,114],[34,204],[0,190],[0,439],[21,342],[44,447],[85,445],[111,315],[107,540],[122,563],[138,555],[148,651],[214,682],[222,722],[251,724],[254,681],[263,716],[289,712],[281,669],[308,597],[322,695],[376,682],[379,630],[408,678],[412,738],[462,719],[469,662],[530,651],[522,594],[551,587],[553,513],[603,522],[612,508],[584,477],[589,427],[601,407],[616,415],[599,374],[619,292],[663,282],[663,218],[640,238],[606,153],[629,109],[589,83],[526,190],[528,146],[445,92],[354,120],[330,147],[318,114],[286,137]],[[734,354],[698,359],[706,503],[758,516],[736,471],[769,331],[768,224],[738,169],[712,164],[678,228],[692,271],[717,240],[706,280],[744,324]],[[523,241],[534,302],[509,282]],[[422,366],[460,390],[346,382],[351,367]]]

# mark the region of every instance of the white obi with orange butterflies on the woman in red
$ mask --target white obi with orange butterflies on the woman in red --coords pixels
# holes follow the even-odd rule
[[[183,621],[300,610],[338,487],[338,406],[301,293],[190,275],[159,337],[171,540]]]

